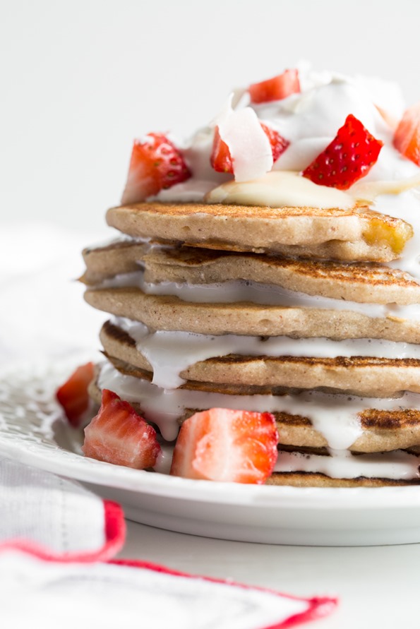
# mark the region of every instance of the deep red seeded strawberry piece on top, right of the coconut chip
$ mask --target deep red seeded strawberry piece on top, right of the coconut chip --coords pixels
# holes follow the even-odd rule
[[[337,136],[302,172],[314,184],[347,190],[368,174],[378,160],[383,142],[376,140],[353,114]]]

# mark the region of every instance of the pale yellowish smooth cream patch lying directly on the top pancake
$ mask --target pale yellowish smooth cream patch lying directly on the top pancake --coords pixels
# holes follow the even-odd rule
[[[270,208],[340,208],[354,206],[354,198],[336,188],[318,186],[297,172],[272,171],[253,181],[228,181],[205,196],[207,203],[268,205]]]

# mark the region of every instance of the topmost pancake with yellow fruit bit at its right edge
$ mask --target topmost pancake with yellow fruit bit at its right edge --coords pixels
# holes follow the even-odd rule
[[[394,260],[413,235],[408,223],[368,206],[340,210],[136,203],[111,208],[107,222],[129,236],[163,242],[347,261]]]

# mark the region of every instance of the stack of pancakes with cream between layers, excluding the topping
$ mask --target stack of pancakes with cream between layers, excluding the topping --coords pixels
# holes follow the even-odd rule
[[[390,263],[411,225],[368,205],[128,203],[124,236],[85,249],[110,313],[103,388],[157,426],[214,407],[272,412],[269,484],[419,483],[420,284]],[[164,469],[157,469],[164,471]]]

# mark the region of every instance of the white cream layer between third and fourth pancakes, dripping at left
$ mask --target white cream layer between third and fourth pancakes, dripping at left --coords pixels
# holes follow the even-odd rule
[[[420,359],[420,345],[381,339],[327,338],[292,339],[286,336],[255,337],[234,334],[210,336],[191,332],[149,330],[147,325],[123,317],[113,317],[113,325],[136,341],[136,349],[153,369],[152,383],[176,388],[185,383],[179,374],[199,361],[239,354],[241,356],[292,357],[381,357]]]

